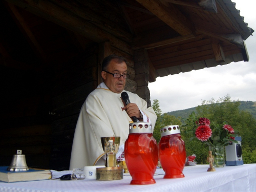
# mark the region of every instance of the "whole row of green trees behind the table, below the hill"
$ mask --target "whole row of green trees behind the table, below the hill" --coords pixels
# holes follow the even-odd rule
[[[244,163],[256,163],[256,119],[247,110],[239,109],[241,101],[231,100],[229,95],[215,100],[203,100],[201,105],[195,108],[197,117],[205,117],[210,121],[215,121],[222,124],[224,121],[231,125],[237,131],[238,136],[242,138],[242,157]],[[251,103],[249,103],[251,104]],[[193,133],[189,132],[191,129],[189,125],[185,126],[185,122],[191,120],[191,115],[187,119],[175,117],[168,113],[162,114],[158,99],[154,99],[153,109],[157,114],[157,121],[154,129],[154,138],[159,142],[161,139],[160,129],[164,126],[173,124],[180,125],[181,137],[185,142],[186,155],[196,154],[196,161],[198,164],[208,164],[208,145],[200,140],[193,138]]]

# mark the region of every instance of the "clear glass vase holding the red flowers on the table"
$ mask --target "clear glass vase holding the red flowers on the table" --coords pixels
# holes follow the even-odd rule
[[[224,167],[224,146],[209,146],[209,151],[211,151],[212,156],[214,156],[214,167]]]

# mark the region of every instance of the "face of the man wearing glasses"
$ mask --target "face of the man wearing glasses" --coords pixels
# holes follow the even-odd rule
[[[110,61],[110,64],[106,71],[122,75],[124,73],[127,73],[127,66],[124,61],[121,63],[117,63],[115,59],[113,59]],[[114,93],[121,93],[124,90],[125,78],[123,78],[123,76],[115,78],[112,74],[106,73],[104,71],[101,72],[101,76],[106,86]]]

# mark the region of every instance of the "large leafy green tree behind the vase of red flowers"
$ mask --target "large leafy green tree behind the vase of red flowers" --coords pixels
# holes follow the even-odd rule
[[[218,124],[226,122],[231,125],[238,133],[238,136],[242,137],[244,162],[256,163],[256,158],[251,158],[254,157],[256,153],[256,119],[253,118],[249,112],[240,111],[239,105],[240,101],[232,101],[229,95],[217,101],[213,98],[208,101],[203,100],[201,105],[196,108],[197,114],[192,113],[189,115],[186,120],[186,126],[184,126],[185,132],[183,140],[186,143],[187,155],[195,153],[199,164],[206,162],[207,155],[204,157],[203,153],[205,152],[205,154],[207,154],[208,147],[206,145],[199,145],[198,143],[201,143],[201,141],[197,139],[191,140],[193,136],[192,131],[195,130],[193,122],[195,122],[195,119],[198,117],[205,117]]]

